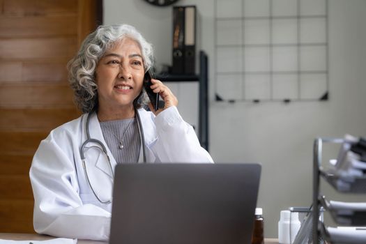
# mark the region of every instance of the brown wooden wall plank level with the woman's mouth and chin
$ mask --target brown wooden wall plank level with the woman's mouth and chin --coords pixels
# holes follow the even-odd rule
[[[70,106],[73,106],[73,91],[68,84],[0,84],[0,107]]]

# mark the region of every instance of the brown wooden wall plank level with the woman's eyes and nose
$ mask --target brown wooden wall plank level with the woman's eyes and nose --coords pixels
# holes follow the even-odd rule
[[[0,61],[1,82],[67,82],[67,61]]]

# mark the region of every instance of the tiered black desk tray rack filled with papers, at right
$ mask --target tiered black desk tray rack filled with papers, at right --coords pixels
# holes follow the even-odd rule
[[[321,157],[324,142],[342,144],[342,150],[345,150],[342,153],[348,152],[351,148],[349,144],[354,143],[348,139],[340,138],[317,138],[314,140],[312,243],[319,243],[319,238],[332,244],[366,243],[366,202],[328,201],[319,194],[320,178],[332,185],[338,192],[366,194],[365,172],[363,176],[354,176],[349,173],[351,172],[349,168],[323,169]],[[355,173],[355,171],[352,172]],[[353,225],[353,227],[327,227],[323,221],[319,221],[321,208],[330,213],[337,224]]]

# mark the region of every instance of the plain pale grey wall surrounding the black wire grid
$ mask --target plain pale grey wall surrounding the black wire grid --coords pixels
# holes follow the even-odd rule
[[[213,0],[179,4],[195,4],[201,14],[201,49],[208,53],[213,81]],[[312,202],[314,138],[366,135],[365,11],[365,0],[329,0],[327,102],[218,103],[211,82],[210,153],[216,162],[262,163],[258,206],[264,208],[266,237],[277,237],[280,210]],[[171,12],[142,0],[105,0],[104,22],[134,25],[155,46],[157,63],[171,64]],[[324,191],[349,199],[329,188]]]

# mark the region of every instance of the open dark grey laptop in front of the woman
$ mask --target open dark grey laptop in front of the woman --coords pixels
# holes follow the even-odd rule
[[[261,166],[116,165],[109,243],[247,244]]]

